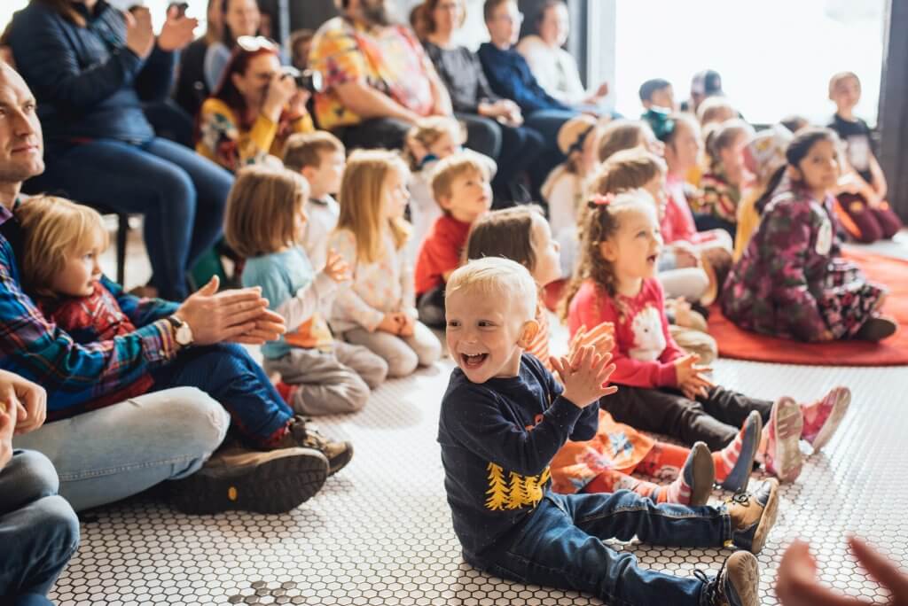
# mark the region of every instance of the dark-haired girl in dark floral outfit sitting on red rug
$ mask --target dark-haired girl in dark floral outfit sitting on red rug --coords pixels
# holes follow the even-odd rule
[[[885,291],[840,256],[830,194],[839,176],[839,140],[801,131],[785,152],[791,188],[769,202],[744,255],[725,281],[722,309],[739,327],[801,341],[891,336]]]

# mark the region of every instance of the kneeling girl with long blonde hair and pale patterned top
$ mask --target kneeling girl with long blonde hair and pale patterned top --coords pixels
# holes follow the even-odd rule
[[[410,170],[393,152],[350,154],[341,181],[341,216],[329,240],[353,279],[335,299],[331,326],[388,362],[388,376],[410,375],[441,355],[439,340],[417,319],[413,273],[404,254],[409,179]]]

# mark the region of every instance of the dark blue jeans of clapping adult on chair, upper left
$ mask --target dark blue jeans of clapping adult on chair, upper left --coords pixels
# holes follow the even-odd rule
[[[221,237],[233,176],[177,143],[154,138],[53,142],[46,171],[26,191],[62,193],[89,206],[144,215],[152,286],[169,300],[186,298],[186,273]]]

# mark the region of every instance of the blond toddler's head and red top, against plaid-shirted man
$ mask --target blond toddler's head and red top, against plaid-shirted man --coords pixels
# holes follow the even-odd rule
[[[99,259],[109,237],[96,210],[54,196],[37,196],[25,200],[15,210],[15,217],[25,234],[23,286],[35,295],[48,321],[82,344],[135,332],[133,321],[102,281]],[[96,398],[93,406],[141,396],[152,386],[151,374],[144,373],[131,384]]]

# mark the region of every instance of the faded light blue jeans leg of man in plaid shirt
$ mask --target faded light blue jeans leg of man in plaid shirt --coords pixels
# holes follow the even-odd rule
[[[220,404],[183,387],[46,423],[13,442],[45,454],[60,494],[82,511],[194,474],[229,425]]]

